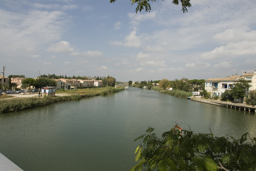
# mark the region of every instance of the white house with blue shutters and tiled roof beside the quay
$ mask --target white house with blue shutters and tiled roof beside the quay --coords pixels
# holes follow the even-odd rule
[[[229,90],[231,85],[238,82],[241,76],[232,75],[225,78],[209,78],[204,81],[204,88],[207,92],[211,92],[212,95],[220,96],[225,90]]]

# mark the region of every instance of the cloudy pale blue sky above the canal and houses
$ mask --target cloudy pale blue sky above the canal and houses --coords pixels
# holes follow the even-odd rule
[[[256,70],[256,1],[0,0],[0,72],[208,79]]]

